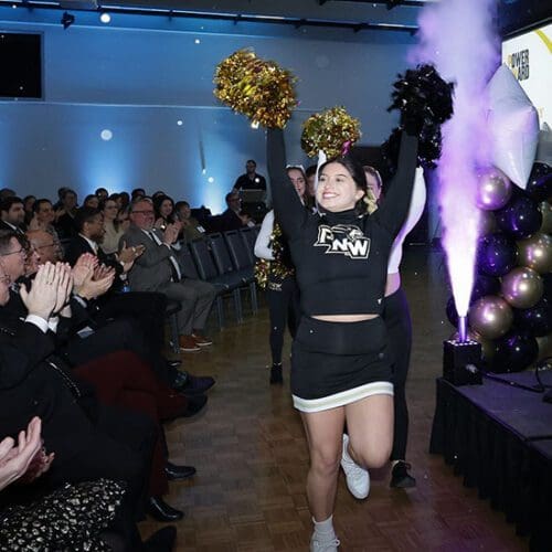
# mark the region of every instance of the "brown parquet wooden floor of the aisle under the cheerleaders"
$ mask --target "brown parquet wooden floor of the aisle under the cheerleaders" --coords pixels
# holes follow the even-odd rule
[[[453,329],[444,314],[447,293],[440,254],[411,248],[404,287],[414,325],[407,386],[408,460],[417,487],[389,488],[389,470],[372,474],[370,497],[357,501],[340,475],[335,526],[340,551],[522,551],[503,514],[477,498],[442,457],[427,454],[442,371],[442,341]],[[306,551],[311,534],[305,495],[308,452],[289,394],[289,342],[285,385],[268,384],[267,311],[212,331],[215,344],[185,354],[187,369],[212,374],[205,412],[167,427],[171,460],[193,465],[192,481],[171,484],[167,501],[185,512],[178,551]],[[288,341],[288,340],[287,340]],[[148,535],[161,524],[140,524]]]

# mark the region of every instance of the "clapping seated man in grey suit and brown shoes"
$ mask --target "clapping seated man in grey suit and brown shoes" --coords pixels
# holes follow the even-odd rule
[[[182,277],[177,258],[180,224],[169,224],[164,232],[153,227],[155,212],[150,201],[139,199],[130,208],[130,227],[120,244],[144,246],[129,272],[132,289],[158,291],[182,306],[178,312],[179,346],[182,351],[197,351],[212,341],[203,335],[216,296],[213,285]]]

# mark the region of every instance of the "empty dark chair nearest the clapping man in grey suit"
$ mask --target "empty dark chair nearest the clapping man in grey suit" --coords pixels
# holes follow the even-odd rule
[[[221,328],[224,320],[222,298],[225,296],[232,295],[236,320],[241,322],[242,300],[240,297],[240,289],[237,286],[232,286],[233,282],[230,278],[225,278],[219,274],[213,256],[211,255],[209,241],[204,238],[193,240],[189,246],[200,278],[216,287],[216,311],[219,314]]]

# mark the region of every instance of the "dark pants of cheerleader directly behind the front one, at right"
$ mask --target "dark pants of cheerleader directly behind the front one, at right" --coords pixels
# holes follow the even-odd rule
[[[408,439],[408,407],[406,405],[405,388],[411,361],[412,321],[408,301],[402,288],[385,297],[382,317],[388,329],[389,351],[394,353],[395,429],[391,459],[404,460],[406,458],[406,442]]]

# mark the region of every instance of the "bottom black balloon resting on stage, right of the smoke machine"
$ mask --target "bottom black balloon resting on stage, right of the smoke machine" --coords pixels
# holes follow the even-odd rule
[[[539,355],[539,344],[534,337],[511,331],[495,341],[491,360],[492,372],[519,372],[532,364]]]

